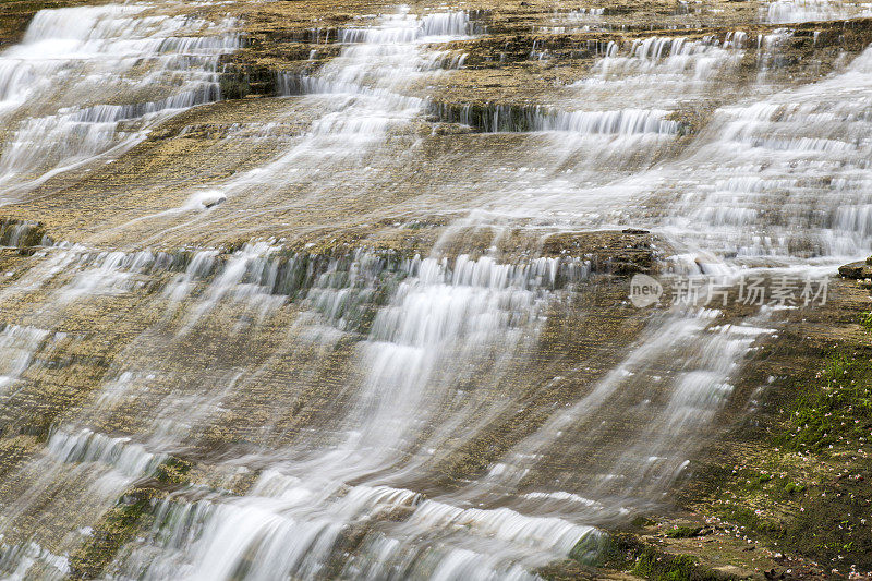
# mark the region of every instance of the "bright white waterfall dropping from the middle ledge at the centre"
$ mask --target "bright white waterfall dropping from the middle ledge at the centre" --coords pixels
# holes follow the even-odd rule
[[[393,305],[379,312],[364,344],[371,372],[348,417],[353,447],[375,459],[396,455],[398,446],[411,444],[403,439],[433,420],[425,410],[448,404],[438,402],[451,386],[489,358],[508,361],[541,322],[543,291],[557,264],[518,267],[459,256],[452,269],[434,258],[415,265],[417,276],[403,281]],[[465,370],[447,371],[450,361],[467,362]],[[434,385],[441,389],[434,392]]]

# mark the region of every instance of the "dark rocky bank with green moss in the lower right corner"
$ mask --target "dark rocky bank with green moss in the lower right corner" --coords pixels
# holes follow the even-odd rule
[[[790,373],[770,388],[762,429],[710,460],[698,476],[710,491],[687,505],[845,578],[872,570],[872,317],[833,308],[815,315],[823,346],[786,330],[795,359],[779,356]]]

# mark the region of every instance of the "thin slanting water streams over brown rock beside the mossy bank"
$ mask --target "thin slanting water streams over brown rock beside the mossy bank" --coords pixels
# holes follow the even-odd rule
[[[535,465],[550,458],[557,474],[518,498],[524,511],[553,513],[581,522],[615,522],[645,509],[665,494],[687,468],[690,443],[723,410],[731,378],[753,340],[772,329],[712,327],[712,310],[674,308],[652,322],[645,340],[571,407],[492,465],[487,479],[456,499],[500,498],[523,489]],[[661,376],[668,362],[668,376]],[[656,374],[656,375],[655,375]],[[658,394],[667,394],[666,400]],[[644,426],[630,438],[622,426]],[[626,438],[615,458],[592,461],[610,438]],[[543,489],[545,486],[571,486]],[[589,547],[595,552],[596,547]]]

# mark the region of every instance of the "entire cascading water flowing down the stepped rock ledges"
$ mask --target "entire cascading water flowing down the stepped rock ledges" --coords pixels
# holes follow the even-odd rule
[[[786,3],[772,22],[809,20]],[[39,12],[0,55],[7,201],[217,99],[237,24]],[[3,222],[32,262],[0,290],[0,429],[22,450],[2,574],[535,579],[662,506],[774,308],[633,310],[617,257],[554,241],[644,227],[664,271],[730,283],[869,253],[870,53],[785,88],[767,66],[789,32],[650,36],[604,43],[547,105],[437,107],[483,31],[464,11],[358,19],[332,59],[279,75],[280,113],[214,140],[268,159],[75,244]],[[270,230],[431,223],[424,254]],[[134,516],[107,549],[100,526]]]

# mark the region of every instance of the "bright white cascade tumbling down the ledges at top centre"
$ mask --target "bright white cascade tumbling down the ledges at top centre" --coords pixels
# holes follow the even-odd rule
[[[462,66],[463,55],[448,55],[432,46],[464,38],[471,31],[467,12],[416,16],[409,14],[408,7],[382,16],[373,26],[340,31],[340,55],[316,76],[279,78],[280,90],[307,96],[305,102],[330,111],[315,119],[302,143],[208,196],[232,201],[245,192],[290,186],[307,179],[308,172],[295,173],[308,164],[344,167],[358,162],[366,150],[384,144],[391,130],[408,125],[421,113],[424,99],[404,96],[402,89],[439,74],[446,65]],[[198,207],[203,195],[194,194],[182,209]]]

